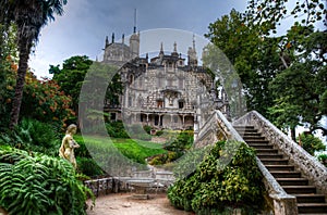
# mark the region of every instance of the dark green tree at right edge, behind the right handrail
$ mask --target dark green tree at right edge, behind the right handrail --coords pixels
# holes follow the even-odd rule
[[[300,54],[270,83],[276,99],[270,112],[281,127],[293,129],[305,122],[310,124],[311,134],[320,129],[327,135],[327,129],[319,125],[327,114],[327,37],[326,33],[311,29],[306,35],[300,30],[302,34],[295,39],[291,34],[301,28],[307,27],[295,25],[288,34]],[[294,134],[292,137],[294,139]]]

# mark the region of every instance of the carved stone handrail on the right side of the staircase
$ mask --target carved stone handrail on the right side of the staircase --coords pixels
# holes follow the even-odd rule
[[[291,140],[268,119],[256,111],[249,112],[234,125],[253,125],[269,140],[276,148],[280,149],[292,164],[304,174],[308,180],[318,189],[318,192],[327,194],[327,169],[308,154],[302,147]]]

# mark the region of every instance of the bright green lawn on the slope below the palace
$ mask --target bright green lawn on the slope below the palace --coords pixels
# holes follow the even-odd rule
[[[110,140],[104,141],[100,137],[92,137],[92,136],[81,136],[75,135],[74,139],[80,143],[84,144],[87,142],[87,146],[98,146],[99,148],[104,144],[110,144],[110,140],[112,141],[113,146],[126,157],[141,163],[145,164],[145,159],[167,153],[166,150],[162,149],[162,144],[143,141],[143,140],[133,140],[133,139],[122,139],[122,138],[110,138]]]

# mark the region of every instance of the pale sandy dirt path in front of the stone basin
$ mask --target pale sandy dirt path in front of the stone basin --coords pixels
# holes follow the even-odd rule
[[[108,194],[96,199],[88,215],[194,215],[170,205],[166,194],[152,194],[149,200],[134,200],[132,193]]]

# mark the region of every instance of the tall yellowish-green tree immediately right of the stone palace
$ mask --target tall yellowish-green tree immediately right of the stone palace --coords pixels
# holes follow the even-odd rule
[[[206,34],[211,42],[234,65],[245,93],[247,109],[267,115],[272,105],[269,81],[281,66],[278,54],[278,38],[263,37],[261,27],[250,23],[235,10],[209,25]]]

